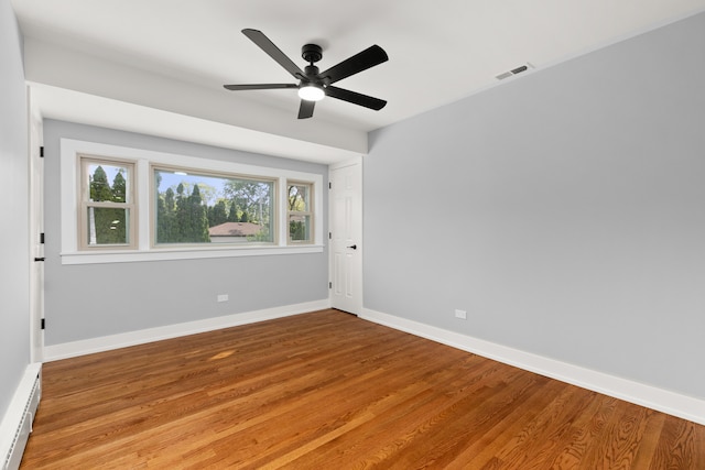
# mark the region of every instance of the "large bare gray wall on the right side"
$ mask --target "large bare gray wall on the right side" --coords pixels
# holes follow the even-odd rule
[[[705,398],[703,77],[698,14],[373,132],[365,307]]]

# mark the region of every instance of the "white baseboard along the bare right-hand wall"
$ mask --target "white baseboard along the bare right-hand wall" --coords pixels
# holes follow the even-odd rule
[[[705,425],[705,401],[365,308],[360,318]]]

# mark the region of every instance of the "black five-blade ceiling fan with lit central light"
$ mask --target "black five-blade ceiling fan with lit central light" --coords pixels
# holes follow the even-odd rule
[[[284,67],[286,72],[299,80],[299,84],[224,85],[224,87],[229,90],[297,88],[299,97],[301,98],[299,119],[311,118],[316,101],[322,100],[325,96],[364,106],[376,111],[379,111],[387,105],[387,101],[382,99],[333,86],[336,81],[347,78],[350,75],[387,62],[389,59],[387,53],[378,45],[372,45],[325,72],[318,72],[318,67],[314,64],[323,57],[323,48],[317,44],[306,44],[301,48],[301,56],[308,65],[302,70],[261,31],[246,29],[242,30],[242,34],[248,36],[279,65]]]

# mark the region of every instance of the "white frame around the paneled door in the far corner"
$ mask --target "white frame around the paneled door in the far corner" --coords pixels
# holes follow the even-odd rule
[[[359,205],[360,205],[360,210],[357,212],[358,217],[356,218],[356,220],[354,221],[354,223],[356,223],[360,229],[359,232],[359,241],[357,241],[358,248],[357,248],[357,256],[355,256],[355,262],[357,263],[357,272],[359,272],[359,276],[358,276],[358,287],[359,287],[359,298],[356,298],[355,300],[355,311],[349,311],[350,314],[354,315],[361,315],[362,314],[362,308],[364,308],[364,304],[362,304],[362,299],[364,299],[364,292],[362,292],[362,285],[364,285],[364,250],[365,250],[365,240],[364,240],[364,227],[362,227],[362,219],[364,219],[364,192],[362,192],[362,186],[364,186],[364,168],[362,168],[362,163],[364,163],[364,159],[362,155],[359,156],[355,156],[352,159],[346,160],[344,162],[339,162],[339,163],[334,163],[328,165],[328,182],[330,184],[332,178],[330,178],[330,174],[332,172],[336,171],[336,170],[340,170],[344,168],[346,166],[357,166],[358,171],[359,171],[359,182],[360,182],[360,187],[359,187]],[[328,186],[328,285],[330,286],[333,284],[333,276],[334,276],[334,247],[333,247],[333,241],[330,240],[330,233],[333,230],[333,221],[334,221],[334,211],[335,211],[335,200],[333,200],[332,197],[332,192],[330,186]],[[336,308],[336,306],[334,305],[334,295],[333,295],[333,288],[328,289],[328,302],[330,303],[332,308]],[[347,310],[346,310],[347,311]]]

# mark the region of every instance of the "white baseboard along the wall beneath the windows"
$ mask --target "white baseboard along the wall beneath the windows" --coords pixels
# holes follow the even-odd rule
[[[326,299],[307,302],[304,304],[288,305],[283,307],[265,308],[262,310],[243,314],[226,315],[223,317],[206,318],[203,320],[184,324],[169,325],[164,327],[148,328],[139,331],[123,332],[119,335],[102,336],[99,338],[84,339],[79,341],[64,342],[44,347],[44,362],[59,359],[75,358],[77,356],[91,354],[94,352],[109,351],[127,348],[129,346],[144,345],[147,342],[181,336],[213,331],[221,328],[230,328],[257,321],[271,320],[307,311],[329,308],[330,302]]]

